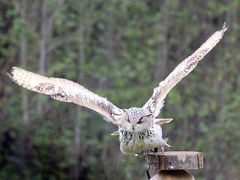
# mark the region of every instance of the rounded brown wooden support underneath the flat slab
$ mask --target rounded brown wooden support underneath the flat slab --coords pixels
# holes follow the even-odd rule
[[[184,170],[162,170],[150,180],[194,180],[194,176]]]

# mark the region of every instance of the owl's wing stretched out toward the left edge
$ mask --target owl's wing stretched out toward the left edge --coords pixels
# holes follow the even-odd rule
[[[53,99],[71,102],[97,111],[116,124],[116,117],[122,110],[106,98],[89,91],[78,83],[67,79],[46,77],[24,69],[13,67],[9,77],[19,86],[31,91],[50,95]]]

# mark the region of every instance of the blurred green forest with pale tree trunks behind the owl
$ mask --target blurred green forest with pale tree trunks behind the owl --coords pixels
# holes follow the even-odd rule
[[[0,179],[146,179],[97,113],[17,87],[19,66],[80,82],[121,108],[224,22],[223,40],[167,96],[164,137],[205,154],[197,179],[240,176],[239,0],[0,0]]]

